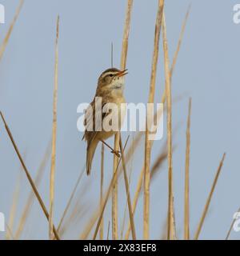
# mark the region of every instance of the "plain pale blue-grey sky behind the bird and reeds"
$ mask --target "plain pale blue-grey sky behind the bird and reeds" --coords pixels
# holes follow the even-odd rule
[[[6,23],[0,25],[4,38],[18,1],[1,0],[6,7]],[[172,81],[174,103],[174,202],[178,237],[183,231],[184,170],[186,150],[186,116],[188,98],[192,97],[190,153],[190,232],[194,235],[210,186],[222,154],[222,168],[210,211],[200,238],[222,239],[240,206],[239,171],[239,59],[240,25],[233,22],[232,0],[166,1],[166,26],[170,59],[174,56],[182,21],[192,3],[178,62]],[[134,0],[126,78],[126,101],[146,102],[149,93],[150,67],[154,43],[157,0]],[[56,201],[54,222],[58,223],[74,184],[85,163],[86,144],[76,128],[77,106],[90,102],[98,75],[110,66],[110,42],[114,42],[114,66],[119,67],[126,1],[26,0],[14,26],[0,63],[0,109],[6,117],[19,150],[26,157],[30,173],[36,174],[51,136],[54,87],[54,38],[57,15],[60,14],[58,138]],[[161,38],[162,39],[162,38]],[[162,43],[159,50],[156,102],[164,87]],[[126,139],[126,133],[123,138]],[[130,141],[133,136],[131,134]],[[154,142],[152,162],[161,152],[166,139]],[[113,145],[113,140],[109,143]],[[142,168],[144,147],[138,149],[132,162],[131,196]],[[2,122],[0,123],[0,211],[8,220],[14,188],[20,169]],[[106,181],[112,174],[112,155],[106,153]],[[92,175],[84,175],[79,190],[85,194],[77,200],[87,206],[82,221],[74,223],[66,238],[78,238],[86,220],[98,204],[100,147],[94,158]],[[49,206],[50,164],[40,186],[42,198]],[[124,183],[119,189],[119,222],[122,223],[126,197]],[[14,228],[26,202],[30,185],[22,173],[20,197]],[[160,238],[167,210],[167,165],[162,166],[150,190],[150,238]],[[106,226],[110,205],[106,209]],[[135,216],[138,238],[142,238],[142,197]],[[34,202],[22,238],[48,238],[48,224]],[[0,234],[2,238],[4,234]],[[230,238],[239,239],[240,233]]]

